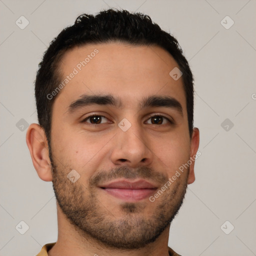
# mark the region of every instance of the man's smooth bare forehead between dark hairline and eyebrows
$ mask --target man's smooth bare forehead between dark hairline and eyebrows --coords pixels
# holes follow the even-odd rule
[[[111,94],[126,106],[146,95],[170,95],[185,107],[182,77],[169,72],[177,67],[174,58],[158,46],[98,43],[67,51],[59,65],[64,80],[54,105],[67,103],[82,94]],[[72,76],[72,78],[70,78]],[[139,102],[138,102],[139,104]]]

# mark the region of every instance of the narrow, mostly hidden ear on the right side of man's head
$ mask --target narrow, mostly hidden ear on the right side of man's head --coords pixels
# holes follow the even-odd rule
[[[198,128],[193,128],[193,133],[190,141],[190,160],[192,163],[189,166],[189,174],[188,174],[188,180],[187,184],[191,184],[194,182],[195,177],[194,177],[194,160],[197,158],[196,152],[199,146],[199,129]]]

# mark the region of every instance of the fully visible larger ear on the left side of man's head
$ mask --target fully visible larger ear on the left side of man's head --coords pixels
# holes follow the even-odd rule
[[[32,123],[29,125],[26,132],[26,144],[39,178],[44,181],[51,181],[48,143],[44,129],[39,124]]]

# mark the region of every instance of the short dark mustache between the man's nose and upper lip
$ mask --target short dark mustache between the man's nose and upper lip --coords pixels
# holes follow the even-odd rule
[[[101,170],[89,179],[90,186],[97,186],[102,182],[111,181],[116,178],[145,178],[149,180],[157,181],[158,183],[165,183],[168,180],[167,175],[161,172],[155,171],[147,166],[139,166],[131,168],[126,165],[119,166],[117,168],[110,168],[109,170]]]

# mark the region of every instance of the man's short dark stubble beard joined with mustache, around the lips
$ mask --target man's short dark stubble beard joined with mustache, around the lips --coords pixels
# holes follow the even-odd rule
[[[50,159],[53,190],[61,211],[81,237],[89,236],[102,246],[116,249],[146,246],[168,228],[183,203],[187,187],[185,173],[182,173],[186,175],[183,179],[176,179],[154,202],[123,202],[119,204],[121,214],[114,216],[100,202],[95,191],[97,184],[115,178],[147,178],[163,185],[168,180],[167,176],[147,166],[130,168],[122,165],[96,172],[87,183],[81,182],[82,178],[72,183],[66,177],[71,168],[57,166],[52,157]],[[154,207],[150,216],[145,217],[143,209],[148,204],[150,207],[151,203],[157,203],[158,206]]]

